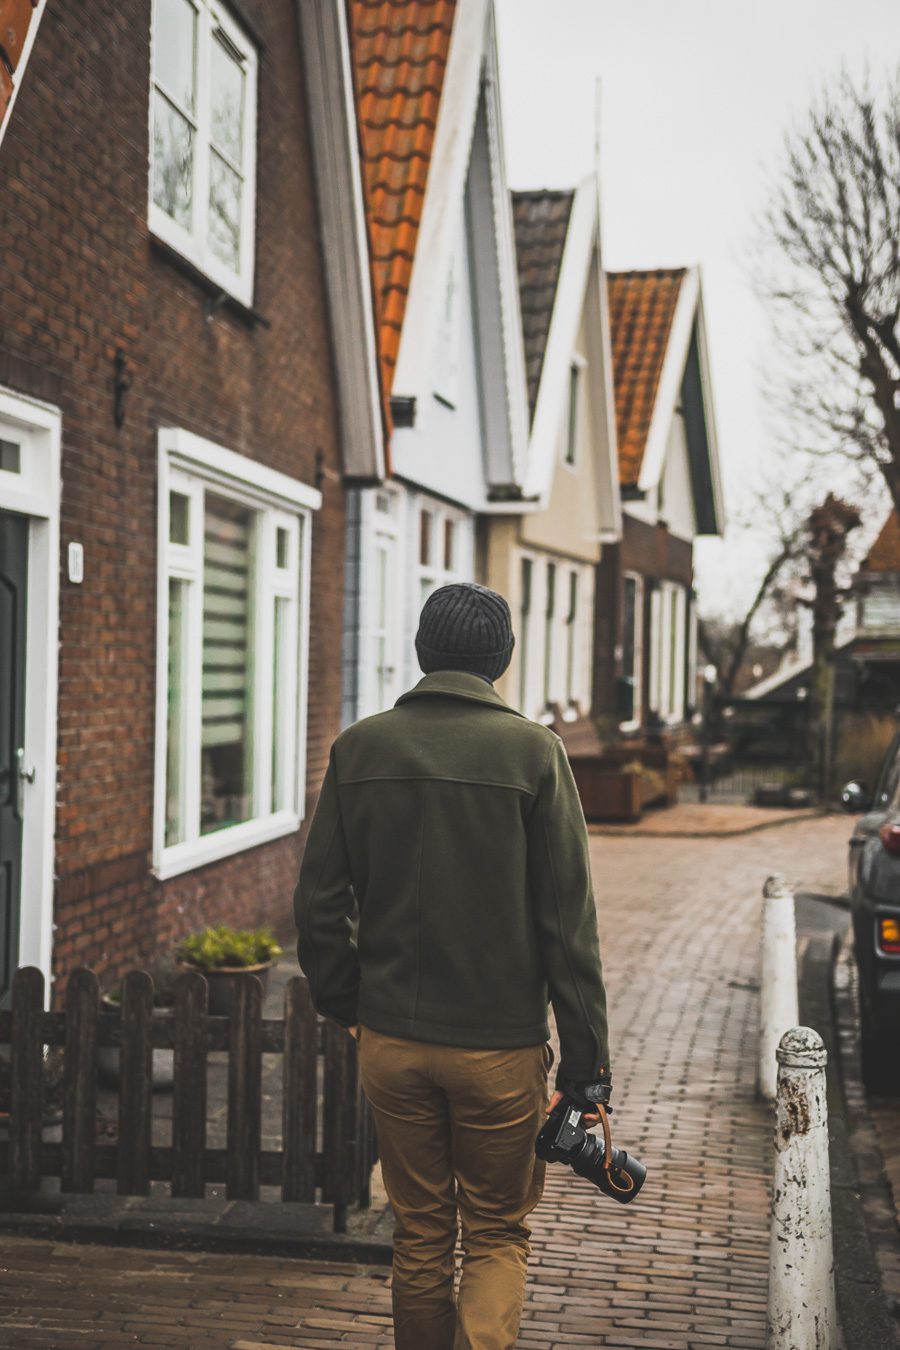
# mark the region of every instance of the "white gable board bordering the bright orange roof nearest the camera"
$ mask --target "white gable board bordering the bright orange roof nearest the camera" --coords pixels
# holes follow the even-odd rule
[[[453,208],[466,192],[486,35],[487,0],[459,0],[397,354],[394,398],[422,398],[426,392],[430,338],[441,298],[434,277],[447,267],[457,219]]]

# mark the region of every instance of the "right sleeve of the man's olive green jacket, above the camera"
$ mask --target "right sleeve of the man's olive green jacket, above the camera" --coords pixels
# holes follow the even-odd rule
[[[596,936],[587,826],[568,756],[551,747],[528,819],[534,923],[560,1034],[557,1081],[591,1081],[610,1066],[606,990]]]

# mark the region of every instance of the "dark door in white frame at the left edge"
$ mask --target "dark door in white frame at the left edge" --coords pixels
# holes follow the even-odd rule
[[[28,520],[0,510],[0,1007],[19,959]]]

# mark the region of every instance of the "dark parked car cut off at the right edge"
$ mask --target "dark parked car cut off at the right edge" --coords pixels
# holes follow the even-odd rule
[[[900,1092],[900,730],[874,791],[847,783],[841,801],[864,813],[850,837],[862,1079],[873,1092]]]

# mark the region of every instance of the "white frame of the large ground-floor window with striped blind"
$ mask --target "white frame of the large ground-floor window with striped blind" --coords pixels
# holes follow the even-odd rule
[[[309,585],[312,558],[312,512],[321,506],[321,493],[266,464],[239,455],[182,428],[163,428],[158,443],[158,578],[157,578],[157,728],[152,871],[165,880],[217,859],[229,857],[246,848],[290,834],[304,818],[306,795],[306,706],[309,671]],[[184,791],[188,811],[188,838],[166,845],[166,741],[169,688],[169,579],[189,583],[188,625],[190,640],[202,639],[202,494],[209,489],[221,497],[258,512],[260,531],[255,567],[256,613],[255,649],[271,651],[271,610],[278,595],[296,597],[297,647],[296,676],[291,675],[286,744],[291,747],[283,784],[289,803],[271,807],[271,764],[269,756],[254,757],[254,796],[260,813],[254,819],[229,825],[209,834],[200,834],[200,764],[201,764],[201,670],[190,671],[185,688],[186,726],[182,755]],[[185,493],[190,502],[188,545],[169,541],[169,493]],[[275,526],[290,525],[290,576],[275,567]],[[298,576],[297,576],[298,574]],[[260,603],[262,601],[262,603]],[[198,652],[194,666],[198,667]],[[271,664],[264,668],[254,694],[254,745],[270,745],[273,738]],[[291,763],[293,760],[293,763]]]

